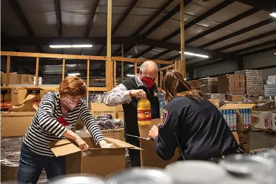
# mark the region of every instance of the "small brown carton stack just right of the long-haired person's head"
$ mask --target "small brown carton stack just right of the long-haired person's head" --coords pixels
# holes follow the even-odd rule
[[[200,91],[202,91],[202,93],[218,93],[217,77],[202,78],[201,81],[202,85],[200,86]]]

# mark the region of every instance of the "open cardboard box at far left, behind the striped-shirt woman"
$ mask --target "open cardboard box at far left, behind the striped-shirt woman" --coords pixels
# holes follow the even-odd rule
[[[28,95],[22,104],[16,104],[9,112],[1,112],[1,137],[24,136],[37,110],[32,101],[35,95]]]

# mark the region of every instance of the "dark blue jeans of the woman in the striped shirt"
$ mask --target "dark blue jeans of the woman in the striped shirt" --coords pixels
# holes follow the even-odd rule
[[[28,149],[23,143],[21,146],[17,182],[37,183],[43,167],[48,179],[65,174],[65,157],[42,156]]]

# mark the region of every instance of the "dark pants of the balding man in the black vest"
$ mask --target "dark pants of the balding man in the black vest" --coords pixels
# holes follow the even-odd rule
[[[126,142],[128,142],[130,145],[140,147],[139,140],[126,140]],[[128,149],[128,154],[130,155],[131,167],[141,167],[140,150]]]

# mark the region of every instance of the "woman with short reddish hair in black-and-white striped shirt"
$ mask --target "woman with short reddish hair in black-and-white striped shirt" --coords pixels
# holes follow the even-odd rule
[[[76,76],[62,80],[59,93],[46,93],[40,102],[31,126],[24,136],[19,160],[19,183],[37,183],[45,169],[47,178],[65,174],[64,156],[55,157],[48,146],[49,142],[69,138],[74,140],[81,150],[88,149],[87,143],[76,131],[76,120],[84,122],[96,145],[114,147],[107,144],[95,119],[82,100],[87,93],[87,86]]]

